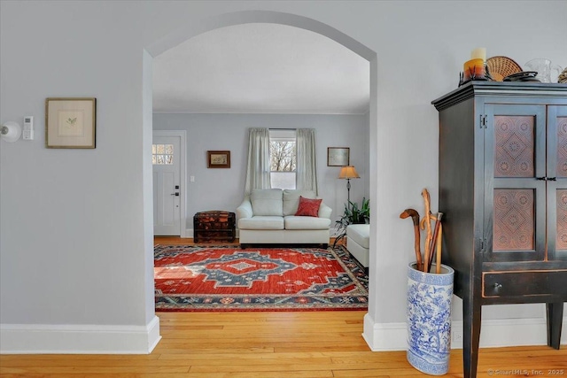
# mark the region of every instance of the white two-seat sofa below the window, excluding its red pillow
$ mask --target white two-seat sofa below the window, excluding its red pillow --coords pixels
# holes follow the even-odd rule
[[[296,216],[300,196],[316,198],[309,190],[253,190],[237,208],[241,247],[252,243],[316,243],[327,248],[332,210],[321,203],[317,217]]]

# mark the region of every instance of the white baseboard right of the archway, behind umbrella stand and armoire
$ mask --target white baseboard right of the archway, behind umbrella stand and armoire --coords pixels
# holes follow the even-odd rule
[[[462,349],[462,320],[451,324],[452,349]],[[405,351],[408,343],[406,323],[374,323],[367,313],[362,334],[372,351]],[[563,318],[562,345],[567,344],[567,318]],[[480,347],[547,345],[545,318],[483,320]]]

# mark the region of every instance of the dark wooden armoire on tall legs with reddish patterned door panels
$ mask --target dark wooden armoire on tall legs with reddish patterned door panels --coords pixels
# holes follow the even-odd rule
[[[462,298],[465,378],[483,305],[545,303],[559,349],[567,301],[567,84],[470,81],[439,111],[443,263]]]

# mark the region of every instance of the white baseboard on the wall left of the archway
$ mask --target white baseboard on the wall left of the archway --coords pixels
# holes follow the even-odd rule
[[[146,326],[0,324],[2,354],[148,354],[160,339],[157,316]]]

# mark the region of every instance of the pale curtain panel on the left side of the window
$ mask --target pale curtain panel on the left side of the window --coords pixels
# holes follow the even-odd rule
[[[269,169],[269,129],[251,128],[245,196],[250,196],[253,189],[271,188]]]

